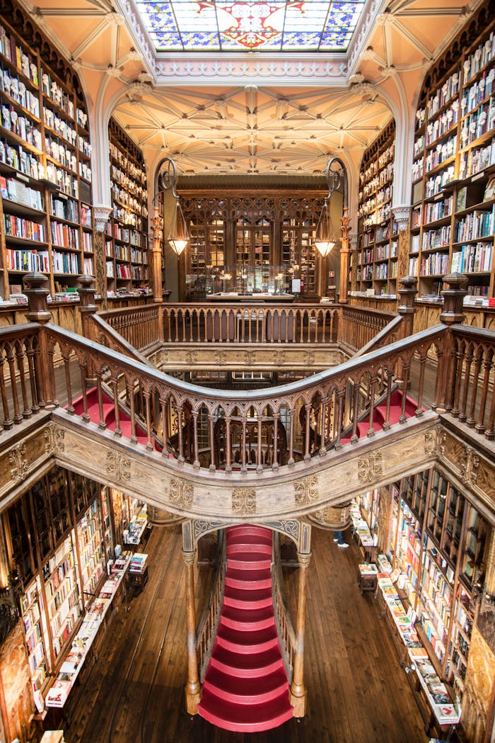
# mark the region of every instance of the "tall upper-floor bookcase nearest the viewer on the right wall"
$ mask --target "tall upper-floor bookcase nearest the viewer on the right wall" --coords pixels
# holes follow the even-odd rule
[[[494,296],[495,33],[481,16],[427,75],[413,162],[409,273],[440,299],[442,276],[468,274],[468,305]]]

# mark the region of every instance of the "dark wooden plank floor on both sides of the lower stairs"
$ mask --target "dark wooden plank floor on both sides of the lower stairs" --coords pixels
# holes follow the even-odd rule
[[[180,528],[154,528],[149,580],[128,595],[99,659],[73,690],[67,743],[426,743],[422,718],[373,595],[356,583],[357,546],[313,529],[306,612],[307,713],[267,733],[229,733],[184,705],[186,606]],[[197,575],[197,600],[210,568]],[[200,578],[204,577],[205,580]],[[208,579],[208,580],[206,580]],[[286,569],[295,591],[298,570]]]

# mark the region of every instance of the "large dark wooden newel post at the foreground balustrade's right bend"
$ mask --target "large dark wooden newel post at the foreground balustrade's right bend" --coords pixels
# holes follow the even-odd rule
[[[444,308],[442,314],[440,314],[440,322],[444,325],[463,322],[465,314],[462,303],[468,293],[465,289],[468,285],[468,276],[464,276],[462,273],[449,273],[448,276],[444,276],[443,282],[445,288],[440,293],[444,298]],[[452,407],[453,383],[457,374],[455,367],[456,355],[453,353],[453,337],[449,333],[445,337],[442,360],[437,370],[439,378],[437,380],[435,409],[438,413],[445,413]]]

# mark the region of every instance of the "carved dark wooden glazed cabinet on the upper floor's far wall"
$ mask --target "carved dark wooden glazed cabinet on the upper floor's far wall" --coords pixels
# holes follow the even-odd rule
[[[314,238],[323,207],[316,192],[216,198],[184,189],[180,198],[191,234],[189,299],[218,291],[283,293],[290,291],[291,277],[301,279],[304,296],[316,296]]]

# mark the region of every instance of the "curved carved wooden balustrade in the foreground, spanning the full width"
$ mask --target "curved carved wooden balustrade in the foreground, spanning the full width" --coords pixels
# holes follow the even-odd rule
[[[96,386],[99,392],[99,415],[93,424],[104,429],[102,380],[105,379],[110,381],[112,390],[115,435],[128,438],[129,445],[139,445],[137,429],[144,427],[149,450],[156,446],[158,437],[163,442],[164,457],[171,454],[179,462],[189,461],[196,470],[202,467],[215,470],[214,426],[223,419],[226,458],[221,469],[229,473],[234,464],[232,456],[229,461],[229,452],[235,450],[239,441],[248,440],[253,421],[261,428],[260,441],[277,421],[277,426],[284,429],[286,455],[281,450],[282,438],[272,434],[268,467],[276,471],[279,467],[291,467],[298,458],[309,460],[332,448],[352,446],[358,435],[373,436],[378,406],[383,412],[382,427],[390,427],[390,403],[396,389],[404,393],[399,423],[407,421],[406,393],[415,400],[416,415],[421,416],[426,407],[424,379],[428,368],[435,386],[430,407],[437,412],[450,412],[466,429],[493,439],[494,334],[459,324],[462,292],[456,292],[455,277],[453,285],[450,293],[445,292],[442,324],[435,328],[298,382],[268,390],[237,392],[203,389],[176,380],[118,351],[51,325],[50,314],[45,309],[46,292],[35,287],[27,290],[32,302],[28,317],[38,322],[0,331],[2,431],[13,428],[40,409],[59,405],[76,418],[73,390],[79,395],[91,386]],[[432,365],[430,356],[438,363]],[[62,368],[56,366],[57,359],[62,360]],[[431,386],[430,381],[430,391]],[[124,396],[131,421],[130,433],[126,435],[119,426]],[[297,436],[301,409],[304,409],[304,430],[300,445]],[[87,409],[78,417],[83,424],[91,423]],[[364,432],[362,426],[361,431],[358,429],[363,418],[366,418]],[[241,461],[241,474],[258,467],[266,469],[263,447],[261,456],[258,452],[257,444],[249,462]]]

